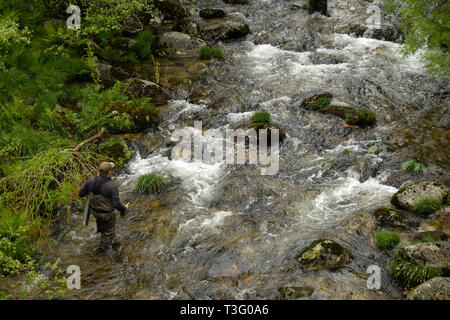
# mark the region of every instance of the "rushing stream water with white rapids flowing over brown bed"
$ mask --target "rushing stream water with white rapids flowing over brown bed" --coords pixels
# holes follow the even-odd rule
[[[387,257],[357,222],[389,206],[402,161],[448,165],[448,83],[427,75],[417,56],[402,57],[400,43],[336,31],[364,22],[369,2],[329,1],[331,17],[292,7],[301,1],[199,2],[192,9],[224,8],[251,34],[214,43],[224,60],[161,60],[172,100],[159,130],[130,139],[134,156],[115,178],[122,201],[132,202],[117,223],[121,258],[93,254],[95,219],[84,227],[80,214],[44,250],[81,268],[82,289],[67,297],[276,299],[282,286],[310,286],[312,299],[401,298]],[[375,111],[377,125],[350,128],[301,109],[296,97],[313,89]],[[172,159],[173,130],[194,132],[197,120],[224,131],[261,109],[286,133],[275,175],[256,165]],[[150,172],[168,185],[157,195],[134,194],[137,178]],[[354,258],[339,271],[302,271],[295,256],[324,237]],[[371,264],[382,268],[382,290],[366,288]]]

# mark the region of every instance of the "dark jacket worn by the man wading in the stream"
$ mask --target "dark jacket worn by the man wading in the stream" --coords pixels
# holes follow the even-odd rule
[[[111,199],[114,208],[119,210],[122,215],[125,213],[125,206],[119,199],[119,189],[110,178],[105,176],[89,178],[81,187],[78,195],[80,197],[85,197],[89,194],[89,192],[92,192],[95,195],[102,195],[107,199]]]

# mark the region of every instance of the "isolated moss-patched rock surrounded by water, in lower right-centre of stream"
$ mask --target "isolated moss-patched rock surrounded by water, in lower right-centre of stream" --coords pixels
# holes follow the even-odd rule
[[[298,255],[298,260],[303,269],[336,270],[344,267],[350,261],[352,255],[340,244],[332,240],[316,240]]]

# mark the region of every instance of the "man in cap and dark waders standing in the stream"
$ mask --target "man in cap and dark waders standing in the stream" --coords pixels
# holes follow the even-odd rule
[[[79,192],[80,197],[85,197],[92,192],[89,206],[97,220],[97,232],[102,234],[100,251],[112,249],[116,227],[114,209],[119,210],[120,215],[124,216],[130,205],[129,203],[123,205],[120,202],[119,189],[111,181],[113,168],[113,162],[102,162],[99,167],[100,174],[89,178]]]

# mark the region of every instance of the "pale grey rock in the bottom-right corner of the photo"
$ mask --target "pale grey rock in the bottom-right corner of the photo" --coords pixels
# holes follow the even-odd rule
[[[408,300],[450,300],[450,278],[436,277],[412,289]]]

